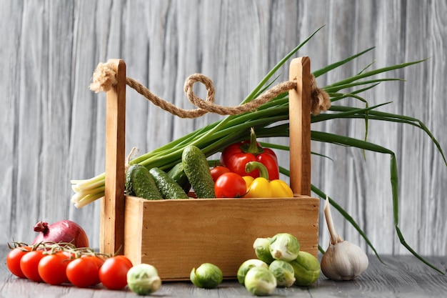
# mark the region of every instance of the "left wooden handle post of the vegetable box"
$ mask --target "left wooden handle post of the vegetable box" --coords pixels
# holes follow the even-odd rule
[[[100,250],[123,254],[124,249],[124,162],[126,134],[126,64],[110,59],[118,83],[107,91],[106,182],[101,199]]]

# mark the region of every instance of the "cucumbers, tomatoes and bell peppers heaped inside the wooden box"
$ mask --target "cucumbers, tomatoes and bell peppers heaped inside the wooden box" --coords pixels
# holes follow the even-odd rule
[[[214,163],[211,169],[210,163]],[[293,197],[288,184],[279,179],[276,154],[258,144],[254,129],[250,140],[226,147],[220,162],[208,161],[201,149],[189,145],[169,172],[131,164],[126,194],[150,200],[188,199],[189,194],[198,199]]]

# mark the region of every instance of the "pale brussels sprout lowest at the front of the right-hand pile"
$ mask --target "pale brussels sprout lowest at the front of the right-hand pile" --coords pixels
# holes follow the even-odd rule
[[[267,296],[276,289],[276,278],[265,267],[252,267],[245,276],[245,287],[253,295]]]

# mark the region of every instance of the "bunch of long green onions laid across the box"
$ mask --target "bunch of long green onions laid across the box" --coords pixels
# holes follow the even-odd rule
[[[320,28],[321,29],[321,28]],[[290,53],[281,59],[281,61],[276,64],[276,66],[271,69],[271,71],[264,76],[264,78],[259,82],[256,88],[251,91],[248,96],[241,102],[241,104],[245,104],[248,101],[256,99],[259,95],[266,91],[269,86],[274,84],[274,81],[277,79],[276,71],[283,66],[283,64],[288,61],[296,52],[301,49],[312,37],[315,35],[320,29],[316,30],[309,36],[305,41],[296,46]],[[359,56],[366,54],[368,51],[371,51],[373,48],[366,49],[361,51],[358,54],[353,56],[349,56],[347,59],[343,59],[341,61],[337,61],[336,63],[330,64],[328,66],[323,67],[322,69],[318,69],[313,71],[313,75],[315,77],[322,76],[323,74],[328,74],[333,69],[337,69],[338,67],[347,64],[354,59],[357,59]],[[335,119],[363,119],[366,124],[366,131],[363,139],[355,139],[348,136],[331,134],[324,131],[311,131],[311,139],[313,141],[321,141],[329,144],[338,144],[341,146],[353,146],[358,149],[362,149],[363,151],[371,151],[378,152],[381,154],[389,154],[391,157],[391,192],[393,199],[393,221],[396,232],[398,234],[398,238],[409,252],[418,257],[423,263],[427,264],[429,267],[437,270],[438,272],[442,272],[440,269],[434,267],[432,264],[427,262],[423,257],[419,256],[405,241],[403,235],[401,233],[401,229],[398,225],[398,172],[397,172],[397,162],[396,162],[396,154],[392,152],[390,149],[387,149],[383,146],[379,146],[378,144],[373,144],[367,141],[368,134],[368,121],[376,120],[376,121],[388,121],[388,122],[396,122],[401,124],[409,124],[412,126],[416,126],[419,129],[422,129],[433,141],[433,144],[436,145],[438,152],[440,152],[443,162],[447,165],[447,160],[441,146],[439,145],[436,138],[431,134],[431,131],[418,119],[403,116],[400,114],[391,114],[383,111],[378,111],[378,108],[385,104],[390,104],[389,102],[378,104],[376,106],[368,106],[368,101],[363,99],[359,94],[363,91],[367,91],[369,89],[373,89],[375,86],[384,81],[400,81],[401,79],[373,79],[373,76],[377,74],[386,73],[388,71],[393,71],[396,69],[402,69],[407,66],[411,66],[413,64],[421,63],[425,60],[411,61],[403,64],[396,64],[392,66],[386,66],[379,69],[368,70],[371,66],[368,65],[365,69],[363,69],[360,73],[351,76],[347,79],[343,79],[341,81],[336,81],[333,84],[329,84],[327,86],[322,87],[323,91],[326,91],[331,99],[331,107],[328,111],[331,113],[323,113],[318,115],[311,116],[311,123],[317,123],[321,121],[329,121]],[[349,91],[344,92],[343,90],[349,89]],[[336,105],[338,101],[341,101],[346,98],[353,98],[361,101],[365,104],[364,107],[358,108],[354,106],[342,106]],[[132,159],[129,164],[141,164],[149,169],[152,167],[159,167],[160,169],[169,170],[177,163],[181,162],[181,153],[184,148],[189,145],[195,145],[199,147],[202,152],[206,155],[206,157],[210,157],[213,154],[221,152],[228,144],[237,141],[243,141],[249,138],[250,128],[253,127],[256,131],[256,136],[259,138],[263,137],[288,137],[288,93],[283,93],[275,98],[268,101],[266,104],[262,104],[256,109],[256,111],[250,111],[243,114],[237,115],[229,115],[224,119],[216,121],[212,124],[202,127],[201,129],[197,129],[196,131],[192,131],[189,134],[181,136],[179,139],[169,142],[164,146],[159,147],[158,149],[154,149],[152,152],[148,152],[143,154],[135,159]],[[271,148],[288,150],[288,146],[271,144],[271,143],[262,143],[263,146],[269,146]],[[318,154],[313,152],[313,154]],[[282,174],[288,176],[289,171],[283,167],[280,168]],[[104,197],[104,184],[105,184],[105,173],[99,174],[96,177],[91,179],[84,180],[71,180],[72,189],[75,194],[73,195],[71,202],[78,208],[84,207],[91,202],[94,202],[96,199]],[[311,185],[311,190],[314,194],[322,199],[326,198],[326,194],[318,189],[315,185]],[[368,246],[373,249],[373,252],[378,256],[376,249],[373,247],[373,244],[369,241],[366,234],[363,232],[361,227],[355,222],[355,220],[340,206],[329,197],[329,202],[331,205],[340,212],[345,219],[350,222],[353,227],[361,234],[361,237],[366,240]],[[323,252],[323,249],[321,249]]]

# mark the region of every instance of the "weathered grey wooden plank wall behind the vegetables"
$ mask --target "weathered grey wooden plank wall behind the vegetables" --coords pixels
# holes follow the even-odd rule
[[[421,119],[447,150],[447,1],[43,1],[0,2],[0,241],[31,242],[33,225],[73,219],[99,247],[99,202],[76,209],[70,179],[104,172],[105,95],[89,91],[96,65],[126,61],[128,76],[179,106],[189,74],[214,80],[216,102],[238,104],[288,51],[326,25],[298,53],[312,69],[376,46],[318,78],[323,86],[373,68],[430,58],[386,74],[363,96],[381,110]],[[287,69],[280,79],[287,79]],[[126,145],[155,149],[220,116],[177,119],[128,90]],[[313,129],[363,137],[363,121]],[[413,126],[370,123],[370,141],[393,150],[400,178],[400,226],[421,254],[447,254],[447,167]],[[129,152],[129,150],[127,150]],[[389,156],[313,144],[313,184],[346,208],[380,253],[408,254],[393,229]],[[288,157],[281,156],[287,166]],[[341,215],[346,239],[366,247]],[[169,214],[166,214],[169,217]],[[321,244],[328,237],[321,217]],[[371,250],[369,250],[371,252]]]

